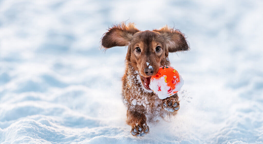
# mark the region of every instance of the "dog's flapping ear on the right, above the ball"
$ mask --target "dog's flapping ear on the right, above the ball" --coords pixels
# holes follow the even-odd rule
[[[189,50],[187,41],[184,34],[180,30],[169,28],[167,25],[161,29],[154,29],[153,31],[159,32],[167,40],[167,47],[169,52],[177,52],[182,50]]]

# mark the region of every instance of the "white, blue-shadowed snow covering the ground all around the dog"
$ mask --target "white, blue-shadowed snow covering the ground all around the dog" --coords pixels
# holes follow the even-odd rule
[[[263,142],[263,2],[0,0],[0,143]],[[191,50],[172,122],[130,135],[121,99],[127,48],[103,53],[106,29],[165,24]],[[192,99],[191,99],[192,98]]]

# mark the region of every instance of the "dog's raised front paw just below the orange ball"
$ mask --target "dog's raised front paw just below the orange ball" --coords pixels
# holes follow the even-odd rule
[[[180,104],[179,104],[178,100],[173,98],[173,97],[169,97],[169,98],[163,100],[162,106],[163,106],[163,109],[165,109],[166,111],[169,111],[169,112],[177,111],[180,108]]]

